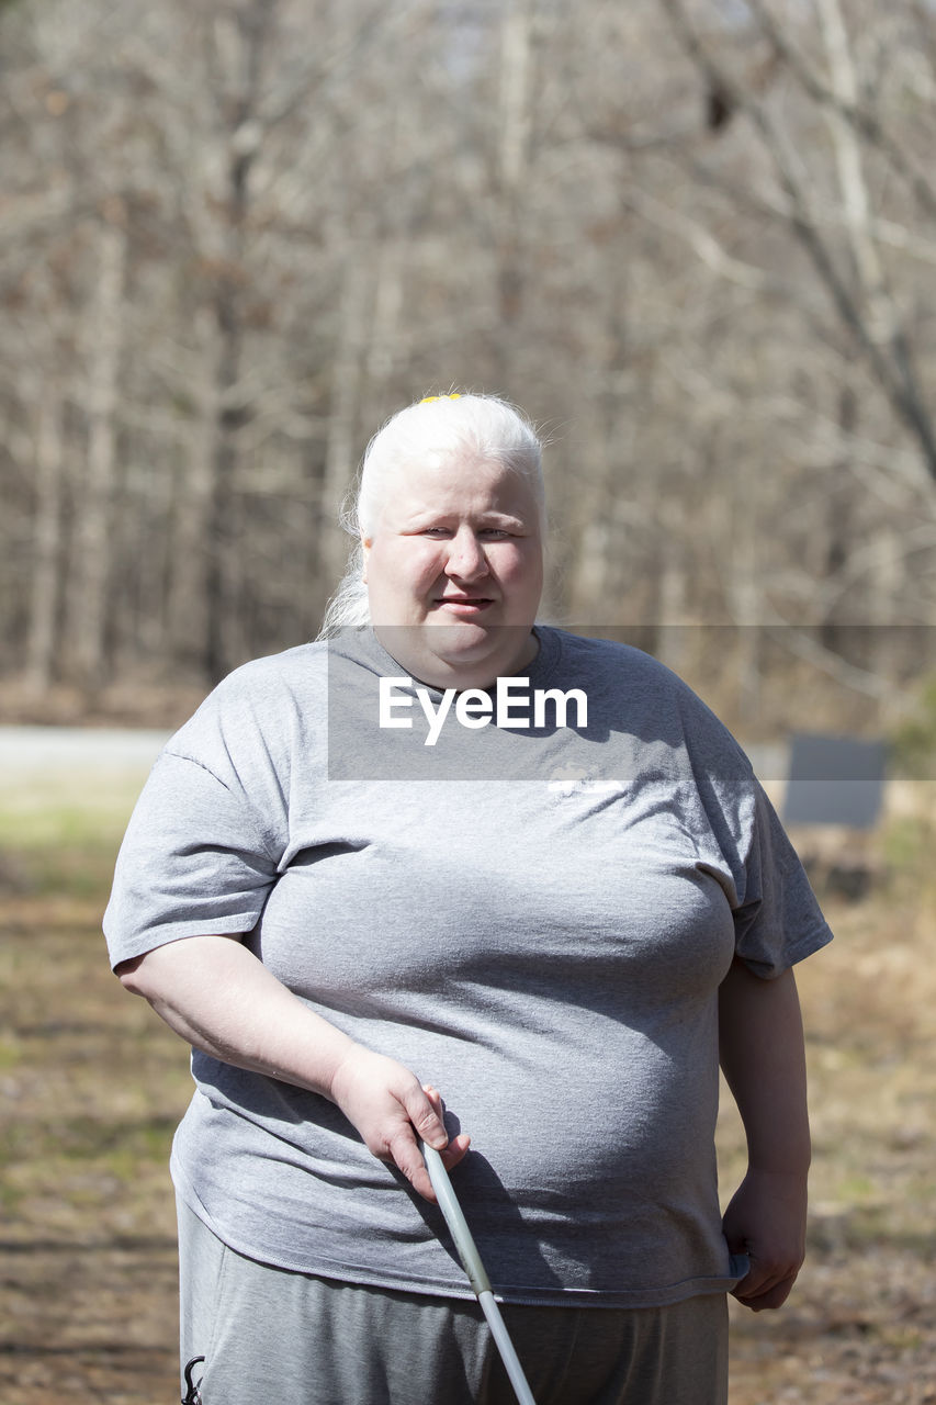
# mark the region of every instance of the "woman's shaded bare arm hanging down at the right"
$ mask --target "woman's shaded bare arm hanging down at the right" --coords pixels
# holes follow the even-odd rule
[[[732,1253],[750,1255],[735,1297],[759,1312],[787,1300],[805,1256],[810,1121],[793,971],[763,981],[735,958],[718,995],[718,1037],[748,1138],[748,1175],[722,1228]]]

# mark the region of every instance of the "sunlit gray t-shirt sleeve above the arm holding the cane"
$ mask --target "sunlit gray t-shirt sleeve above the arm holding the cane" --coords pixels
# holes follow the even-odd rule
[[[104,916],[111,965],[180,937],[252,932],[275,875],[275,836],[236,773],[164,752],[117,860]]]

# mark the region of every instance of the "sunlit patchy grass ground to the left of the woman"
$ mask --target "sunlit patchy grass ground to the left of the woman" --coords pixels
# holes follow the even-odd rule
[[[138,777],[31,777],[0,813],[0,1401],[164,1405],[166,1172],[186,1050],[107,968],[103,896]]]

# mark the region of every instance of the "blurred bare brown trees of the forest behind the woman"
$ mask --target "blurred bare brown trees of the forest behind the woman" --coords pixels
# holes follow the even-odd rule
[[[0,66],[6,719],[313,636],[453,386],[551,440],[551,618],[748,731],[926,673],[930,0],[0,0]]]

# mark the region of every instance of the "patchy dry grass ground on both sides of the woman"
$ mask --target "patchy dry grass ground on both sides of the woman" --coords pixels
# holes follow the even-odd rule
[[[187,1057],[104,958],[124,799],[87,778],[56,805],[0,806],[0,1405],[169,1405]],[[732,1405],[936,1402],[935,839],[892,822],[870,895],[829,899],[838,940],[801,967],[810,1257],[783,1311],[732,1304]],[[720,1155],[728,1190],[728,1106]]]

